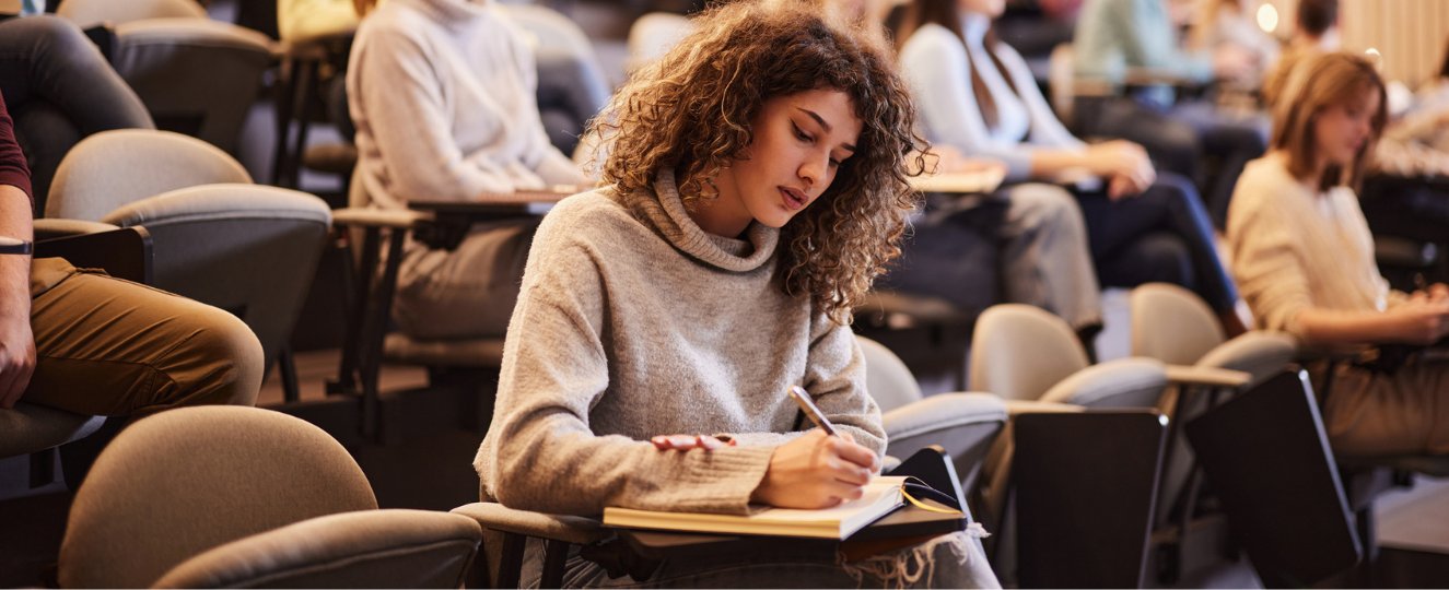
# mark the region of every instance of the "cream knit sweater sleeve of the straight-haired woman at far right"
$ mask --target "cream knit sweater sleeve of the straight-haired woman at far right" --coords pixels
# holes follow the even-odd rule
[[[1268,175],[1245,174],[1229,205],[1227,240],[1243,301],[1266,330],[1303,337],[1298,314],[1313,307],[1304,252],[1294,240],[1293,211]]]

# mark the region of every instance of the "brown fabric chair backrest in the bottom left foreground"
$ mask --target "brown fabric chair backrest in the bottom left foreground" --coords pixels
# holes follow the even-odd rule
[[[96,458],[61,542],[64,587],[149,587],[222,544],[377,509],[367,476],[320,428],[242,406],[178,408],[129,425]]]

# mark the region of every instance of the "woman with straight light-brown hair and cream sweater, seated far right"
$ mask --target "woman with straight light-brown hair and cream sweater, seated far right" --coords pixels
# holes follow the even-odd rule
[[[1258,322],[1306,349],[1432,344],[1449,334],[1449,286],[1390,291],[1353,188],[1384,130],[1384,82],[1355,55],[1294,68],[1272,149],[1248,165],[1227,218],[1243,298]],[[1323,383],[1327,363],[1310,367]],[[1449,363],[1342,364],[1323,406],[1343,454],[1449,453]]]

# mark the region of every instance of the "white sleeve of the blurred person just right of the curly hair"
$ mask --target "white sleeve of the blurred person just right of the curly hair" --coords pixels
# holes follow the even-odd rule
[[[971,59],[961,39],[943,26],[923,26],[901,48],[900,62],[933,142],[1006,162],[1010,181],[1030,175],[1029,146],[991,139],[971,90]]]

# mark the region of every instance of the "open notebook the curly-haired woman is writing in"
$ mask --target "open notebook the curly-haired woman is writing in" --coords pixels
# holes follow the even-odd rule
[[[604,525],[735,535],[781,535],[843,539],[900,508],[906,477],[875,477],[859,500],[820,510],[751,506],[748,516],[697,512],[653,512],[606,508]]]

